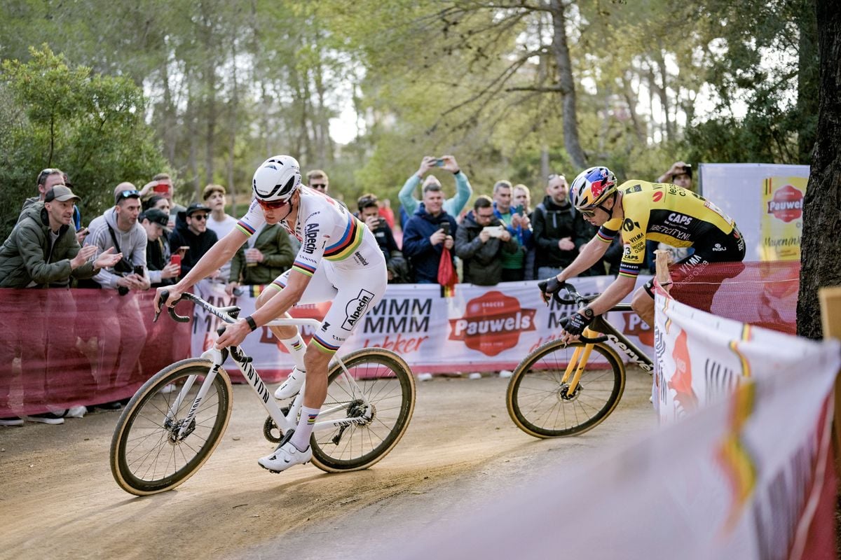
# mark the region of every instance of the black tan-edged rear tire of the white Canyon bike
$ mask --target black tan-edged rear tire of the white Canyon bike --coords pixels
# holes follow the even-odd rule
[[[385,366],[394,372],[394,378],[399,382],[400,387],[399,412],[397,413],[394,425],[389,428],[387,435],[381,438],[378,445],[357,457],[340,458],[331,454],[331,444],[325,443],[325,441],[330,434],[335,434],[335,431],[313,432],[313,435],[309,440],[313,451],[312,463],[327,473],[361,470],[363,468],[371,467],[374,463],[378,463],[380,459],[389,454],[394,446],[400,441],[400,438],[403,437],[406,428],[409,427],[412,414],[415,411],[415,377],[412,375],[408,364],[406,364],[405,361],[396,353],[384,348],[362,348],[347,354],[342,358],[342,361],[345,363],[348,370],[359,368],[364,364],[378,364],[380,366]],[[336,379],[339,379],[340,374],[341,367],[334,364],[328,374],[327,400],[325,400],[325,407],[331,405],[331,400],[333,400],[331,398],[331,386],[334,386],[333,382],[336,381]],[[381,390],[382,387],[378,387],[378,383],[373,381],[370,383],[370,387],[368,387],[368,389],[373,393],[374,390]],[[376,403],[374,404],[376,406]],[[319,417],[319,420],[322,420],[322,418]],[[377,421],[376,416],[374,421]],[[360,439],[364,439],[362,436],[366,433],[368,436],[376,436],[376,432],[374,431],[375,429],[382,429],[382,427],[379,424],[373,427],[348,427],[347,430],[351,431],[351,433],[344,434],[341,441],[352,441],[348,440],[348,437],[357,436],[360,437]],[[366,432],[362,432],[363,430]]]

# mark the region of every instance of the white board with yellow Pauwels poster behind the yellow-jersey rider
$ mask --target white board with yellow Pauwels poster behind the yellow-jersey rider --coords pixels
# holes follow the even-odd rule
[[[800,260],[808,165],[701,164],[701,189],[736,220],[745,260]]]

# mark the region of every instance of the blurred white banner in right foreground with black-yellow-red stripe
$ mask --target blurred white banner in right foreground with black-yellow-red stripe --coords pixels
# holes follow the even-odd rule
[[[657,305],[669,330],[659,367],[677,372],[661,383],[680,421],[571,471],[550,464],[542,484],[388,557],[835,558],[841,344]]]

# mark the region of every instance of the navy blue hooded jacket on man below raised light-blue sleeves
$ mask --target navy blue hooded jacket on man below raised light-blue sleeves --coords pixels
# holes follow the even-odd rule
[[[441,262],[444,243],[432,245],[429,237],[441,229],[441,222],[450,224],[450,235],[455,239],[458,233],[456,220],[443,210],[437,216],[432,216],[424,207],[420,207],[415,215],[409,218],[409,222],[406,222],[403,230],[403,254],[414,267],[417,282],[438,283],[438,264]],[[450,255],[452,259],[452,252]]]

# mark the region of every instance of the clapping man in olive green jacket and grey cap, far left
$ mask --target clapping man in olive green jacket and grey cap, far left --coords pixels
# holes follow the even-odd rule
[[[0,287],[66,287],[71,277],[90,278],[119,261],[122,255],[113,249],[90,260],[96,248],[79,247],[70,225],[78,200],[69,187],[58,185],[24,210],[0,247]]]

